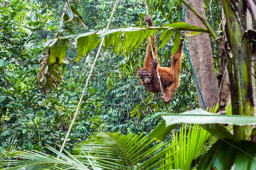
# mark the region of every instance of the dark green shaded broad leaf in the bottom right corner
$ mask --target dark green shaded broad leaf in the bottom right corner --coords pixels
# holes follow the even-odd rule
[[[235,163],[236,169],[256,169],[256,143],[219,139],[201,159],[197,170],[227,170]]]

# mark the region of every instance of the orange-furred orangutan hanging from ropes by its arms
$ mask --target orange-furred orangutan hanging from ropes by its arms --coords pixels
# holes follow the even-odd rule
[[[145,20],[148,22],[149,26],[153,26],[151,18],[149,20],[149,18],[146,18],[145,16]],[[183,34],[183,36],[185,35]],[[151,38],[152,38],[153,51],[156,57],[155,35],[153,35],[153,37],[151,36]],[[182,39],[180,40],[180,46],[177,52],[172,56],[171,67],[160,67],[157,60],[153,59],[149,40],[148,40],[148,49],[147,49],[147,55],[144,61],[144,66],[140,68],[137,72],[138,77],[140,77],[141,85],[144,86],[149,92],[154,92],[154,93],[161,92],[158,78],[157,78],[157,73],[156,73],[156,66],[157,66],[161,83],[164,89],[164,94],[161,96],[161,98],[164,99],[164,101],[167,103],[172,101],[173,93],[179,87],[179,84],[180,84],[179,76],[181,71],[181,58],[182,58],[181,54],[183,49]],[[144,80],[146,83],[144,82]]]

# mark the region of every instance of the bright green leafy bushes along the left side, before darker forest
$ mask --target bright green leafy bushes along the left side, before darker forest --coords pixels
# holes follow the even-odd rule
[[[6,4],[4,3],[6,2]],[[53,18],[45,6],[22,1],[1,2],[1,46],[0,46],[0,101],[1,159],[13,149],[46,152],[46,144],[56,147],[64,140],[68,123],[72,120],[77,101],[84,85],[83,75],[74,83],[72,74],[66,72],[66,84],[62,91],[44,93],[39,88],[38,73],[40,59],[45,53],[40,35],[56,31]],[[46,11],[46,12],[45,12]],[[78,89],[78,90],[77,90]],[[79,124],[68,145],[79,143],[89,134],[88,129],[99,127],[102,113],[102,95],[90,87],[84,96],[78,119]],[[95,115],[94,115],[95,114]],[[68,147],[70,150],[71,147]]]

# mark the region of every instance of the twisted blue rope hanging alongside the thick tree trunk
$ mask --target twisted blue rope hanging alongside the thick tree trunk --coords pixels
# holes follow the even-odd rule
[[[183,12],[183,19],[182,19],[182,22],[185,22],[186,8],[187,8],[187,6],[184,5],[184,12]],[[193,77],[195,78],[195,82],[196,82],[196,86],[197,86],[198,92],[199,92],[200,97],[201,97],[201,100],[202,100],[202,102],[203,102],[203,104],[204,104],[204,109],[206,110],[207,107],[206,107],[206,105],[205,105],[205,103],[204,103],[204,98],[203,98],[201,89],[200,89],[200,87],[199,87],[199,84],[198,84],[198,82],[197,82],[196,74],[195,74],[195,71],[194,71],[194,69],[193,69],[193,66],[192,66],[192,63],[191,63],[191,60],[190,60],[190,55],[189,55],[189,52],[188,52],[187,45],[186,45],[186,43],[185,43],[185,39],[183,39],[183,44],[184,44],[183,51],[184,51],[185,54],[188,55],[188,61],[189,61],[189,64],[190,64],[191,69],[192,69],[192,72],[193,72]]]

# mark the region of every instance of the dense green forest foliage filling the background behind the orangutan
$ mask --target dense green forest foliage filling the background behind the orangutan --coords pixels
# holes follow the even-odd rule
[[[113,2],[80,2],[82,6],[78,7],[78,11],[83,14],[82,18],[88,31],[104,28]],[[68,48],[65,59],[68,62],[68,70],[65,72],[66,84],[60,84],[60,92],[54,89],[47,93],[42,92],[37,82],[39,60],[45,54],[42,43],[48,37],[49,31],[52,31],[51,36],[56,34],[59,22],[57,17],[55,25],[52,26],[55,13],[51,11],[56,12],[58,4],[44,6],[39,3],[1,1],[0,99],[4,128],[0,135],[3,141],[0,145],[2,158],[15,148],[45,152],[45,144],[51,144],[53,147],[56,147],[55,144],[61,144],[96,54],[96,50],[93,50],[74,65],[72,63],[76,57],[76,46],[74,43],[69,44],[73,49]],[[61,3],[60,11],[62,6]],[[180,3],[167,1],[167,4],[163,4],[155,1],[151,5],[151,10],[155,26],[163,26],[182,19]],[[60,11],[58,13],[61,13]],[[144,12],[144,4],[139,1],[121,1],[110,27],[145,26],[142,19]],[[81,26],[80,29],[86,30]],[[156,33],[156,39],[159,38],[160,34]],[[172,45],[172,41],[166,43],[157,53],[162,66],[171,64]],[[136,70],[146,55],[146,41],[139,48],[115,53],[113,56],[111,53],[110,48],[96,63],[89,90],[85,92],[84,102],[80,107],[68,145],[84,140],[95,130],[149,133],[160,120],[158,115],[164,108],[162,101],[158,95],[147,93],[136,78]],[[117,76],[120,72],[123,72],[122,77]],[[109,91],[106,82],[110,75],[117,77],[115,85]],[[196,107],[198,103],[195,84],[184,56],[180,88],[169,108],[171,113],[180,113]],[[140,113],[139,119],[136,115],[131,117],[130,112],[134,109]]]

